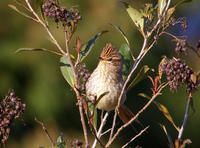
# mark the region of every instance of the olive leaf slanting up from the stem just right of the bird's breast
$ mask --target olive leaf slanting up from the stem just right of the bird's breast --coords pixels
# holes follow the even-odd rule
[[[147,65],[144,65],[140,71],[137,73],[136,77],[133,79],[131,84],[128,86],[128,90],[135,86],[138,82],[142,81],[144,78],[147,77],[148,73],[150,72],[150,68]]]

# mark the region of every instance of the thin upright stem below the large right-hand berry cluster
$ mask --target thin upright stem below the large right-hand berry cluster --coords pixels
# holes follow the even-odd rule
[[[191,99],[192,99],[192,94],[190,93],[189,96],[188,96],[187,105],[186,105],[186,108],[185,108],[185,115],[184,115],[184,119],[183,119],[183,124],[182,124],[181,129],[179,130],[179,133],[178,133],[178,140],[181,140],[181,137],[183,135],[183,130],[185,128],[185,125],[186,125],[186,122],[187,122],[187,119],[188,119]]]

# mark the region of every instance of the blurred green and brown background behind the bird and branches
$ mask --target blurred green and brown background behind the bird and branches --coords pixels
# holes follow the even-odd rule
[[[151,2],[155,3],[155,1]],[[16,49],[21,47],[43,47],[47,49],[55,49],[56,47],[48,41],[46,32],[39,24],[20,16],[8,8],[9,3],[13,3],[13,1],[0,1],[0,97],[3,98],[9,89],[14,89],[16,95],[27,104],[27,109],[23,116],[23,121],[17,121],[12,126],[11,135],[6,144],[7,147],[36,148],[41,145],[50,145],[42,128],[34,121],[34,117],[45,123],[54,139],[62,131],[68,140],[78,138],[83,140],[76,98],[62,77],[59,69],[59,57],[43,52],[14,53]],[[118,1],[62,0],[61,4],[68,8],[70,6],[78,6],[83,19],[79,23],[75,37],[79,36],[82,42],[87,42],[102,30],[109,30],[97,41],[93,51],[85,60],[90,71],[97,65],[97,57],[106,43],[111,42],[118,49],[125,43],[119,32],[108,23],[117,24],[123,29],[127,34],[131,47],[133,47],[134,56],[138,54],[141,49],[142,36],[134,27],[123,5]],[[134,4],[139,7],[143,2],[138,1],[134,2]],[[188,40],[193,45],[200,39],[199,5],[199,1],[194,0],[192,3],[181,6],[176,13],[177,16],[188,17],[188,31],[185,34],[189,36]],[[175,30],[172,30],[174,33],[182,34],[183,31],[180,26],[175,28]],[[61,27],[57,28],[55,25],[55,27],[51,27],[51,30],[64,46],[64,34]],[[75,41],[70,45],[73,54],[75,53],[74,45]],[[162,55],[165,54],[169,57],[175,55],[173,48],[174,45],[170,43],[170,38],[162,37],[141,62],[140,67],[148,64],[149,67],[157,69]],[[196,54],[191,52],[185,59],[194,70],[200,69],[200,59],[197,58]],[[139,68],[137,71],[139,71]],[[136,73],[134,75],[136,76]],[[138,97],[137,94],[147,93],[150,95],[150,87],[150,81],[144,80],[127,94],[126,104],[134,113],[147,102],[147,100]],[[183,136],[183,138],[192,140],[192,147],[197,147],[199,143],[199,96],[199,91],[194,94],[196,113],[189,118]],[[163,95],[157,98],[157,101],[168,108],[176,125],[181,125],[186,99],[184,88],[180,88],[174,93],[170,93],[167,88]],[[176,130],[153,104],[140,116],[140,121],[144,125],[151,125],[151,127],[148,133],[133,142],[132,145],[134,146],[168,147],[167,138],[159,123],[166,125],[173,139],[177,137]],[[128,140],[126,138],[134,135],[134,132],[130,131],[130,129],[127,129],[121,135],[120,139],[122,139],[123,143]]]

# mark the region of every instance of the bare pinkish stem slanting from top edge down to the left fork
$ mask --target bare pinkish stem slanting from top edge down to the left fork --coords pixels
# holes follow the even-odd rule
[[[58,50],[65,55],[66,53],[62,50],[61,46],[59,45],[58,41],[55,39],[55,37],[52,35],[52,33],[50,32],[48,26],[40,19],[40,17],[37,15],[37,13],[33,10],[32,6],[30,5],[28,0],[25,0],[28,8],[30,9],[30,11],[33,13],[33,15],[37,18],[37,20],[39,21],[39,23],[45,28],[45,30],[47,31],[47,33],[49,34],[49,36],[51,37],[51,39],[53,40],[54,44],[57,46]]]

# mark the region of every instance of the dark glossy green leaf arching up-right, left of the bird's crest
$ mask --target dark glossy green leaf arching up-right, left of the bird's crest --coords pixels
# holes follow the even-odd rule
[[[89,40],[86,44],[84,44],[81,48],[80,51],[80,57],[79,57],[79,61],[83,61],[85,59],[85,57],[90,53],[90,51],[92,50],[92,47],[94,46],[96,40],[104,33],[106,33],[108,31],[102,31],[98,34],[96,34],[91,40]]]

